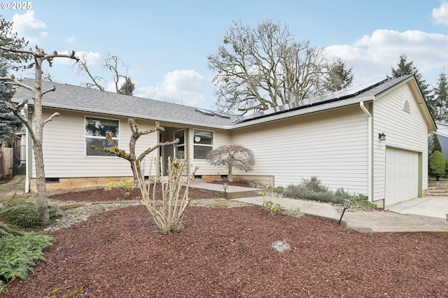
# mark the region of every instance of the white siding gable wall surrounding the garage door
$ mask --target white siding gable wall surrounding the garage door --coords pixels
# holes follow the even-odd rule
[[[403,110],[409,102],[410,113]],[[374,132],[374,183],[373,199],[384,199],[386,175],[386,146],[401,148],[422,155],[422,190],[428,188],[428,125],[408,85],[376,99],[373,104]],[[378,134],[384,132],[386,141],[380,142]]]

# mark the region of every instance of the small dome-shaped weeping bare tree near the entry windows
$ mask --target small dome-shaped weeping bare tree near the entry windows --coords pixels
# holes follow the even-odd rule
[[[255,165],[253,152],[241,145],[224,145],[211,150],[207,155],[207,162],[214,166],[225,166],[228,168],[228,180],[233,181],[233,169],[241,171],[252,171]]]

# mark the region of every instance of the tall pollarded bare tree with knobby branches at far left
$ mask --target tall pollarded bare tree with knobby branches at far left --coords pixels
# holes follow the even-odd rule
[[[56,87],[52,87],[49,90],[42,90],[42,64],[43,62],[48,62],[50,66],[52,66],[52,61],[55,58],[69,58],[75,59],[78,61],[78,58],[75,57],[75,52],[71,52],[71,54],[59,54],[58,52],[52,52],[50,54],[46,53],[43,49],[38,48],[36,46],[36,50],[22,50],[18,48],[8,48],[5,46],[0,46],[1,52],[6,53],[17,53],[19,55],[29,55],[34,59],[34,62],[29,64],[27,68],[34,67],[34,85],[29,86],[25,83],[22,83],[15,76],[10,77],[0,77],[0,80],[5,81],[5,84],[15,85],[18,87],[25,88],[29,90],[32,95],[31,99],[33,100],[34,113],[32,123],[28,120],[28,118],[23,115],[22,109],[28,103],[28,99],[23,100],[19,104],[10,104],[8,102],[3,102],[6,108],[8,108],[13,114],[23,122],[23,124],[27,127],[29,135],[33,140],[33,152],[34,152],[34,160],[36,162],[36,182],[37,182],[37,194],[39,199],[47,199],[47,190],[45,187],[45,169],[43,164],[43,150],[42,150],[42,142],[43,142],[43,127],[45,124],[50,122],[53,118],[59,116],[59,113],[53,113],[47,119],[43,119],[42,113],[42,97],[48,92],[53,92],[56,90]],[[46,204],[46,203],[45,203]],[[48,206],[44,206],[44,214],[43,219],[48,220]]]

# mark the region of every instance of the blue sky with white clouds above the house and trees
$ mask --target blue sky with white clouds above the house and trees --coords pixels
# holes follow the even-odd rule
[[[448,0],[34,0],[29,10],[2,1],[0,14],[30,45],[84,53],[106,89],[113,91],[101,68],[109,52],[129,66],[134,95],[201,108],[215,101],[207,55],[234,20],[288,24],[296,41],[353,67],[355,85],[386,78],[402,53],[432,86],[448,69]],[[58,83],[87,82],[71,64],[58,59],[45,71]]]

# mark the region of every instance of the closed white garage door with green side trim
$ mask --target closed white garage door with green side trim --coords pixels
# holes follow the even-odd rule
[[[419,194],[419,153],[386,148],[386,200],[391,205]]]

